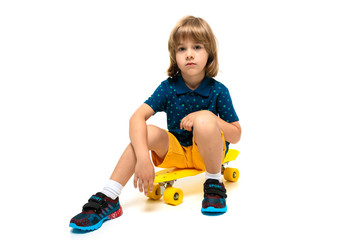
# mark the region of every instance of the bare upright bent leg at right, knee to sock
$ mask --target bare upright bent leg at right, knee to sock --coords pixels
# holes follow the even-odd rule
[[[223,140],[215,117],[199,115],[194,120],[193,134],[208,173],[221,171]]]

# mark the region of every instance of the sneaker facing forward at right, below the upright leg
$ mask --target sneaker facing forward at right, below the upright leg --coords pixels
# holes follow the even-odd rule
[[[201,212],[205,215],[226,213],[226,189],[223,183],[216,179],[208,179],[204,183],[204,200]]]

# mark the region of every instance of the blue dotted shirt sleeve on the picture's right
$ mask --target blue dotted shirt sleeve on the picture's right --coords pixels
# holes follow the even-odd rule
[[[223,86],[217,98],[216,110],[219,113],[219,117],[228,123],[239,121],[232,104],[230,92],[225,86]]]

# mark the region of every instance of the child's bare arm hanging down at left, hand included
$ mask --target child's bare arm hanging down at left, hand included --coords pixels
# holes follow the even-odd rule
[[[148,188],[152,191],[155,172],[150,160],[147,143],[146,121],[154,114],[147,104],[141,105],[130,118],[130,140],[136,156],[134,187],[147,195]]]

